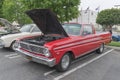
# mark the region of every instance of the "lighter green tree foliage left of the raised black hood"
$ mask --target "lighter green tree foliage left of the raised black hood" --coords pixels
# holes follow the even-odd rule
[[[24,14],[26,7],[21,3],[21,0],[4,0],[2,12],[4,18],[9,21],[18,21],[20,24],[31,22]]]

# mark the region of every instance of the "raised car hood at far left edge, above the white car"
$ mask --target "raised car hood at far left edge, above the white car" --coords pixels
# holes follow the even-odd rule
[[[2,23],[8,31],[17,32],[19,31],[15,25],[12,25],[8,20],[0,18],[0,23]]]

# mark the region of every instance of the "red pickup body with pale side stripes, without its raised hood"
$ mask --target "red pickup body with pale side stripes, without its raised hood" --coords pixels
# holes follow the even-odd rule
[[[16,51],[27,56],[27,58],[30,60],[48,65],[50,67],[57,66],[59,71],[65,71],[68,69],[72,59],[76,59],[94,50],[97,50],[98,53],[102,53],[104,50],[104,44],[107,44],[111,41],[111,34],[109,32],[97,34],[94,26],[91,24],[66,23],[65,25],[80,26],[80,30],[78,30],[78,27],[74,29],[75,31],[79,31],[77,32],[79,35],[77,33],[75,33],[75,35],[71,35],[69,33],[69,35],[66,35],[66,31],[66,33],[64,33],[64,37],[61,36],[61,38],[52,41],[47,41],[47,36],[44,38],[46,41],[44,44],[42,44],[42,46],[36,45],[37,42],[39,43],[39,40],[37,40],[39,36],[24,37],[18,39],[16,42],[18,45]],[[91,27],[91,33],[84,33],[84,28],[86,26]],[[49,34],[49,38],[51,38],[50,36],[54,36],[54,38],[56,38],[60,35],[61,34],[52,33]],[[44,39],[42,40],[43,42]],[[46,50],[44,51],[43,49]],[[43,54],[39,52],[40,50],[43,50],[43,53],[49,52],[49,54]],[[68,53],[69,56],[65,56]],[[66,57],[65,60],[68,60],[69,63],[64,64],[64,56]],[[64,67],[64,65],[67,65],[67,67]]]

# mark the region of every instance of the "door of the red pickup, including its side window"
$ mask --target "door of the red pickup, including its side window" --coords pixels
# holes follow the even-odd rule
[[[83,25],[81,36],[83,53],[90,52],[96,48],[97,37],[94,34],[92,25]]]

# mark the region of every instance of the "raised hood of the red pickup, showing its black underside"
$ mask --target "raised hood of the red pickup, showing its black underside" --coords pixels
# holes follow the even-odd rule
[[[49,9],[33,9],[26,14],[34,21],[44,34],[60,34],[68,36],[62,25],[57,20],[57,16]]]

